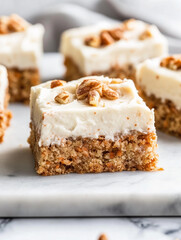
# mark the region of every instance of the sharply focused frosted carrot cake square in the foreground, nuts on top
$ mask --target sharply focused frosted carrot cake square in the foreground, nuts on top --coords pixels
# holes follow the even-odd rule
[[[156,169],[154,112],[132,80],[54,80],[32,87],[30,101],[38,174]]]

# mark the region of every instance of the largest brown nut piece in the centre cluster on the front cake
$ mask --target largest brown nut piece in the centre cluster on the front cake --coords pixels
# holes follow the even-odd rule
[[[96,90],[102,95],[102,83],[95,79],[85,79],[76,89],[77,99],[85,99],[90,90]]]

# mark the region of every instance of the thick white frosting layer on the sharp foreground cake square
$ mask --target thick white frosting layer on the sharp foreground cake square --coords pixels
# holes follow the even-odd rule
[[[94,78],[111,81],[103,76]],[[114,139],[116,134],[125,135],[132,130],[155,131],[154,113],[138,96],[132,80],[111,85],[119,93],[119,99],[102,98],[100,106],[92,107],[86,100],[75,97],[76,85],[84,79],[68,82],[63,87],[50,88],[51,82],[32,87],[31,118],[40,134],[40,145],[60,144],[62,138],[68,137],[97,138],[104,135],[107,139]],[[71,103],[55,102],[54,98],[62,88],[71,93]]]

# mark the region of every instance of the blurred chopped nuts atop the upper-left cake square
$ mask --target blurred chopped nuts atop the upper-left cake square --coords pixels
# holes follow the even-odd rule
[[[8,34],[12,32],[22,32],[28,27],[28,23],[16,14],[11,16],[3,16],[0,18],[0,34]]]

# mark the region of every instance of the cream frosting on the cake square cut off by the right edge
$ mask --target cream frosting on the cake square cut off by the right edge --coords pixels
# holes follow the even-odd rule
[[[160,67],[161,58],[149,59],[137,69],[137,82],[145,93],[157,98],[171,100],[181,109],[181,70]]]

